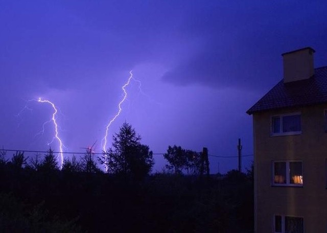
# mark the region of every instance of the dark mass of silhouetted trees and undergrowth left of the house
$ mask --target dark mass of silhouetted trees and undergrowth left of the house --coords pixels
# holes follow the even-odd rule
[[[127,123],[102,156],[88,148],[61,171],[51,149],[2,151],[0,232],[253,232],[252,169],[204,178],[201,153],[170,146],[164,157],[151,173],[153,153]]]

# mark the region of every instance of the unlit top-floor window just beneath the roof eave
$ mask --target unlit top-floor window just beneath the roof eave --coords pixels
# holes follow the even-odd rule
[[[275,115],[272,117],[272,135],[291,135],[301,133],[301,115]]]

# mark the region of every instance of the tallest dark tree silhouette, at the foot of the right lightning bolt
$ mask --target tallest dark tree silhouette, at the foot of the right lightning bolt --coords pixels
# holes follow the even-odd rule
[[[141,136],[125,122],[119,133],[113,135],[112,147],[100,158],[108,173],[140,179],[149,174],[154,165],[152,151],[140,141]]]

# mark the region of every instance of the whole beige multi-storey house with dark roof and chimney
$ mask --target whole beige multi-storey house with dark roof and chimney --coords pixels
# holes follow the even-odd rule
[[[284,78],[255,103],[254,230],[327,232],[327,66],[282,54]]]

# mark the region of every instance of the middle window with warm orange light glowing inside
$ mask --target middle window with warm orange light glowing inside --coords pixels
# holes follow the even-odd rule
[[[303,186],[301,161],[274,161],[272,183],[275,186]]]

